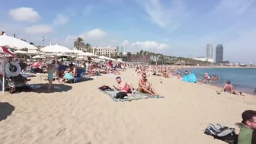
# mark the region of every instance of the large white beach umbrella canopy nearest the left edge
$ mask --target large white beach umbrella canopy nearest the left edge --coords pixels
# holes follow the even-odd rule
[[[0,46],[9,46],[11,49],[22,50],[37,50],[36,46],[31,45],[30,43],[25,42],[24,40],[17,39],[15,37],[9,37],[7,35],[0,35]]]

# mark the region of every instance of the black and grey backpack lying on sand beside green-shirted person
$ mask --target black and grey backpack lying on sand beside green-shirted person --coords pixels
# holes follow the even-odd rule
[[[236,144],[238,135],[235,134],[234,128],[222,126],[220,124],[210,124],[204,131],[206,135],[213,136],[214,139],[220,139],[229,144]]]

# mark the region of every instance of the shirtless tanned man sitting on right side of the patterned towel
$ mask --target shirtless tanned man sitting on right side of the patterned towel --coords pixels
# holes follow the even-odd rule
[[[153,96],[158,95],[155,89],[152,87],[152,84],[146,78],[146,73],[142,73],[142,78],[139,79],[139,92],[147,93]]]

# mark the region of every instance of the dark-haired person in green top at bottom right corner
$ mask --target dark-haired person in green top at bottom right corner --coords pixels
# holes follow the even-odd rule
[[[245,110],[242,113],[242,127],[238,135],[238,144],[256,143],[256,111]]]

